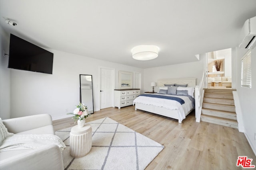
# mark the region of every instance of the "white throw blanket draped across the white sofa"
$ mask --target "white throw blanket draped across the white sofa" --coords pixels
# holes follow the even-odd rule
[[[56,135],[44,134],[44,135],[11,135],[4,139],[0,146],[0,152],[7,150],[21,150],[21,149],[37,149],[44,145],[55,144],[60,147],[60,150],[64,150],[66,145]]]

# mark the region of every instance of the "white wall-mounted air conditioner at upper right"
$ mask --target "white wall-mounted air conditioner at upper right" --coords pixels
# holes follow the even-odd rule
[[[256,45],[256,16],[244,22],[240,33],[240,49],[253,49]]]

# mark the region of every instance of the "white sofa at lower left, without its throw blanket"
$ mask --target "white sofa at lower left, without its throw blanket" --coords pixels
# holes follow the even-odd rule
[[[3,120],[8,132],[14,134],[52,134],[52,117],[48,114]],[[0,152],[1,170],[63,170],[63,160],[57,145],[38,149]]]

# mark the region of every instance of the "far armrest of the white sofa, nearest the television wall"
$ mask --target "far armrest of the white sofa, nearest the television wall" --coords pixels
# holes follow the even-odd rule
[[[20,133],[39,127],[52,125],[52,116],[49,114],[31,115],[3,120],[10,133]]]

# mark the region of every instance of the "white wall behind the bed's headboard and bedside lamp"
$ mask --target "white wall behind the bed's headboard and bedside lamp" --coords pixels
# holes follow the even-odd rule
[[[164,78],[196,78],[196,84],[199,84],[204,70],[203,59],[200,55],[200,61],[192,63],[174,64],[169,66],[161,66],[144,69],[144,90],[152,92],[151,82]],[[158,87],[154,87],[157,91]]]

